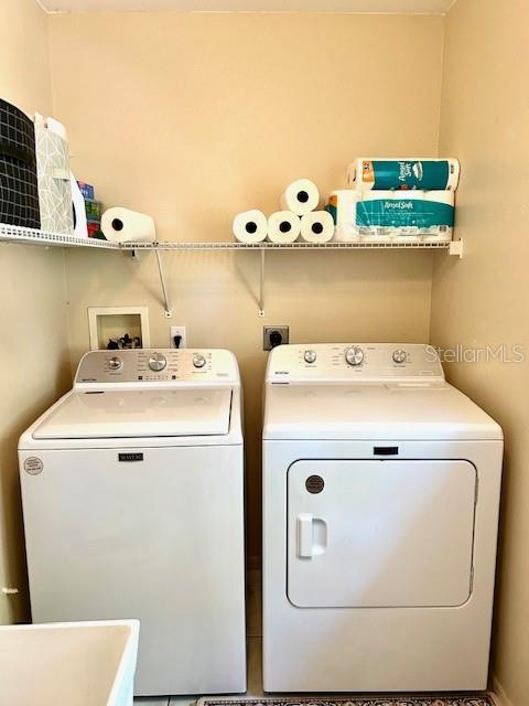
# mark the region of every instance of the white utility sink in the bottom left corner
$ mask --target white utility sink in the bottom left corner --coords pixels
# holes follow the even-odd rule
[[[140,623],[0,628],[0,706],[129,706]]]

